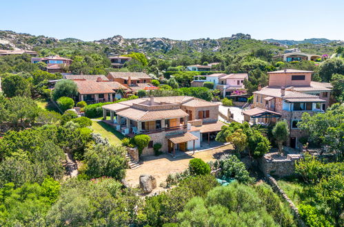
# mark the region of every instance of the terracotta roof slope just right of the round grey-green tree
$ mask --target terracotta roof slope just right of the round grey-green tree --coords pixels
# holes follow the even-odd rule
[[[78,86],[79,94],[108,94],[115,93],[106,83],[94,80],[74,80]]]

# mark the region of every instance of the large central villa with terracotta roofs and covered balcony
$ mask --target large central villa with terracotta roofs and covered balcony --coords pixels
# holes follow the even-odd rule
[[[110,125],[125,136],[147,134],[151,141],[143,155],[152,155],[153,144],[175,153],[199,148],[201,141],[221,131],[219,105],[190,96],[151,97],[104,105],[104,120],[110,111]]]

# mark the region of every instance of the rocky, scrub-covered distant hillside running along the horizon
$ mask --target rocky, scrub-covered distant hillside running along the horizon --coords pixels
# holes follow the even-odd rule
[[[318,54],[332,54],[335,46],[328,39],[306,39],[305,41],[290,42],[307,42],[299,43],[303,52],[312,52]],[[320,42],[323,43],[320,43]],[[281,41],[282,42],[282,41]],[[327,43],[324,43],[327,42]],[[233,34],[230,37],[221,39],[192,39],[189,41],[173,40],[168,38],[138,38],[125,39],[123,36],[116,35],[99,41],[81,41],[80,39],[67,38],[56,39],[47,36],[33,36],[12,31],[0,31],[0,49],[5,50],[36,50],[43,55],[60,54],[68,55],[71,53],[90,53],[99,52],[101,54],[128,54],[130,52],[141,52],[149,57],[172,59],[177,55],[200,56],[202,53],[221,54],[245,54],[255,50],[269,50],[271,54],[279,54],[286,49],[285,44],[290,45],[287,41],[283,44],[274,39],[261,41],[252,39],[250,34]],[[336,44],[338,45],[338,44]],[[341,44],[339,44],[341,45]]]

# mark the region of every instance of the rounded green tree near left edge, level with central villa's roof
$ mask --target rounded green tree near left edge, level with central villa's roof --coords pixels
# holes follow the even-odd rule
[[[39,114],[37,103],[31,98],[15,96],[6,102],[8,112],[7,120],[17,127],[19,122],[22,127],[25,123],[32,123]]]

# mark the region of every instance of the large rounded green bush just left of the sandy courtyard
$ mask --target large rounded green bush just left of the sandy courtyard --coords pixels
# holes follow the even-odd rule
[[[107,176],[122,180],[126,167],[124,154],[124,147],[96,144],[85,151],[85,173],[90,178]]]

